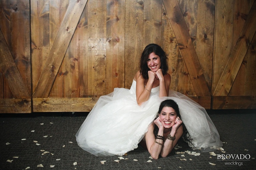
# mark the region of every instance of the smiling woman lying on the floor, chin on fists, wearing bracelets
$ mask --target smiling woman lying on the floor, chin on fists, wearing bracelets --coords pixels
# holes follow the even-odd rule
[[[168,99],[161,102],[157,117],[149,125],[140,144],[147,147],[153,159],[158,159],[159,155],[168,156],[181,136],[190,142],[190,135],[181,121],[177,103]]]

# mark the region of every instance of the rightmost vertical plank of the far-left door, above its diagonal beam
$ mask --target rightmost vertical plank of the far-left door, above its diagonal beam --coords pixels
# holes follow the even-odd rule
[[[12,56],[31,96],[29,0],[11,0],[10,7]]]

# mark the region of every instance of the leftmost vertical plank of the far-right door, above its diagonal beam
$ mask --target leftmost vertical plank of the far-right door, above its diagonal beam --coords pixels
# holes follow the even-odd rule
[[[233,48],[233,13],[234,0],[216,0],[213,92],[226,66],[228,56]]]

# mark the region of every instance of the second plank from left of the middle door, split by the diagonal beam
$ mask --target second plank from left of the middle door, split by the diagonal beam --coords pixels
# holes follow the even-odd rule
[[[59,31],[61,22],[68,8],[68,0],[49,0],[49,24],[50,24],[50,49]],[[62,64],[58,70],[57,77],[51,89],[51,97],[64,97],[63,84],[64,76],[67,76],[67,70]]]

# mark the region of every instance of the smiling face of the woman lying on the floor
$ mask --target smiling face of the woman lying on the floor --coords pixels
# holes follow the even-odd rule
[[[171,128],[175,124],[177,114],[172,107],[164,107],[159,114],[164,128]]]

